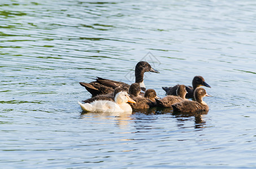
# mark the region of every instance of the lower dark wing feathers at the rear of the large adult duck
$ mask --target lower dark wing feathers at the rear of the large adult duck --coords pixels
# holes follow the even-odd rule
[[[114,89],[108,86],[104,86],[103,84],[99,84],[97,82],[83,83],[79,82],[81,86],[84,86],[92,96],[97,95],[106,95],[114,92]]]

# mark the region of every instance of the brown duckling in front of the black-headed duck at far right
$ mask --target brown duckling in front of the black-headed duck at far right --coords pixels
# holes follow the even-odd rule
[[[172,104],[173,112],[186,112],[186,113],[196,113],[205,112],[209,110],[209,106],[202,100],[203,97],[210,96],[207,94],[206,90],[202,87],[196,88],[194,91],[193,100],[185,100],[179,103]]]

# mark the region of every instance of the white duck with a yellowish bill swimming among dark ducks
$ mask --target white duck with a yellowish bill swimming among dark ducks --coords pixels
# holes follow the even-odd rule
[[[129,97],[127,92],[121,91],[115,96],[115,102],[109,100],[95,100],[92,103],[79,103],[81,109],[85,112],[100,113],[123,113],[132,112],[132,108],[127,102],[136,103]]]

